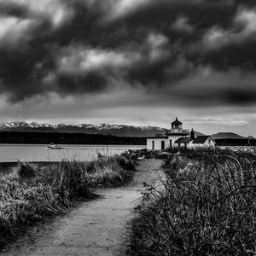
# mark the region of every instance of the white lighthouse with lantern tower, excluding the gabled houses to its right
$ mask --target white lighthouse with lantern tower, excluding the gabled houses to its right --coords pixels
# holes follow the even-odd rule
[[[154,137],[147,138],[148,150],[163,150],[166,148],[177,147],[175,143],[181,137],[189,137],[189,130],[183,129],[183,123],[178,119],[172,122],[171,130],[167,130],[165,134],[156,134]]]

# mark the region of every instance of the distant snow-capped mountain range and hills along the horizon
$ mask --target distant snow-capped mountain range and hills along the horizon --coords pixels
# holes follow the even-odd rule
[[[89,133],[89,134],[109,134],[121,137],[150,137],[156,133],[164,133],[165,128],[157,126],[133,126],[133,125],[108,125],[108,124],[80,124],[80,125],[49,125],[38,124],[37,122],[2,122],[0,131],[32,131],[32,132],[67,132],[67,133]],[[195,131],[195,137],[204,135]],[[242,138],[233,132],[218,132],[212,135],[213,139],[222,138]]]

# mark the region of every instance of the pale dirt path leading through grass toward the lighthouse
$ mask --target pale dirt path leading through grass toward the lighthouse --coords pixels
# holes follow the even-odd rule
[[[161,160],[143,160],[129,186],[98,189],[100,197],[64,217],[29,229],[1,255],[125,255],[127,225],[140,202],[143,183],[160,185]]]

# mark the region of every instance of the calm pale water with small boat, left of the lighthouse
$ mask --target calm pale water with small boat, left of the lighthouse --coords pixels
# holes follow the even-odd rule
[[[92,160],[96,153],[121,154],[128,149],[142,149],[145,145],[60,145],[61,149],[49,149],[43,144],[0,144],[0,162]]]

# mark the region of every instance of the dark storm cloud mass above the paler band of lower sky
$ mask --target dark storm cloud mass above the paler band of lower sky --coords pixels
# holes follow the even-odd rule
[[[0,0],[0,91],[20,102],[140,84],[173,102],[254,104],[253,2]]]

